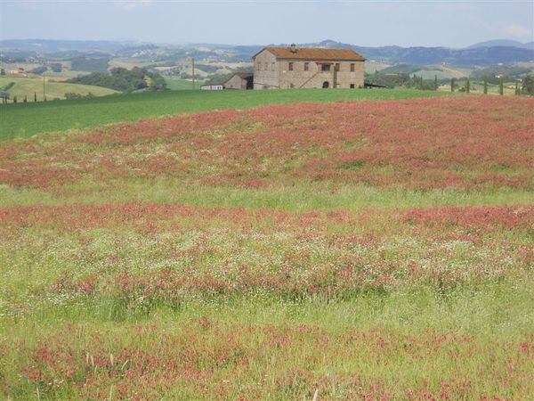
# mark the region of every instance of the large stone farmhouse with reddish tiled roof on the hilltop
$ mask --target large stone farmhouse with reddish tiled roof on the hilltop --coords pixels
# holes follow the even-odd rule
[[[255,89],[363,87],[365,58],[352,49],[265,47],[253,60]]]

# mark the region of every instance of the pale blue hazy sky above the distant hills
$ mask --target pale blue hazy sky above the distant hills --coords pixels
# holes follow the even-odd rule
[[[534,1],[0,0],[0,39],[460,48],[534,41]]]

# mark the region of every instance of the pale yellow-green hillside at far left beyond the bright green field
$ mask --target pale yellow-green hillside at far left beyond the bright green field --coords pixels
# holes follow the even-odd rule
[[[24,96],[28,96],[28,102],[34,102],[34,94],[37,94],[37,102],[43,101],[43,78],[42,77],[0,77],[0,87],[4,87],[11,82],[15,85],[9,89],[11,97],[17,96],[17,100],[22,102]],[[68,84],[66,82],[51,82],[51,78],[46,77],[46,99],[65,99],[65,94],[94,94],[95,96],[105,96],[107,94],[117,94],[117,91],[107,87]],[[16,105],[15,105],[16,106]],[[37,106],[37,105],[36,105]],[[4,110],[0,111],[2,114]]]

